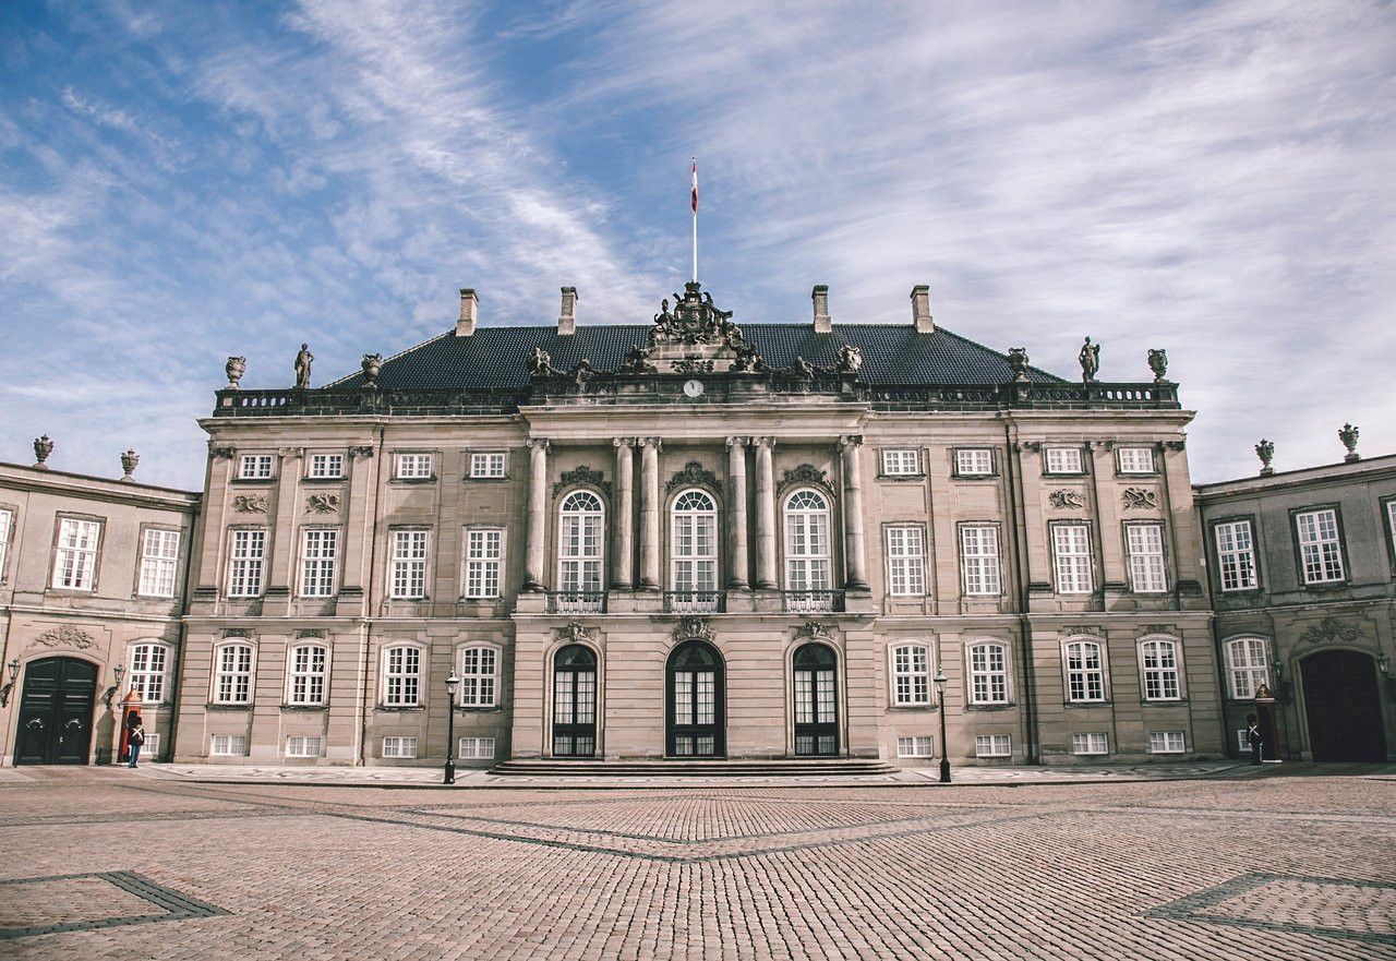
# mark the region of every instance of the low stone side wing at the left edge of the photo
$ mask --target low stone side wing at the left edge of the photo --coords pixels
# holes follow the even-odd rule
[[[52,446],[50,446],[52,450]],[[45,453],[46,457],[46,453]],[[0,464],[0,763],[75,763],[119,749],[134,687],[147,756],[173,750],[188,543],[200,497]],[[54,697],[70,701],[50,711]]]

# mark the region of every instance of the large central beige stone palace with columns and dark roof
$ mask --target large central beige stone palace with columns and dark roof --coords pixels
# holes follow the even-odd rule
[[[466,289],[324,387],[230,359],[172,760],[1223,756],[1163,352],[1068,381],[924,286],[900,325],[812,305],[738,327],[694,282],[578,325],[564,288],[491,325]]]

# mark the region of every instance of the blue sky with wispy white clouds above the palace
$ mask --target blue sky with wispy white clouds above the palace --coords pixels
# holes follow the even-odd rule
[[[448,330],[938,324],[1166,348],[1194,479],[1396,453],[1390,3],[0,4],[0,461],[198,489],[195,419]]]

